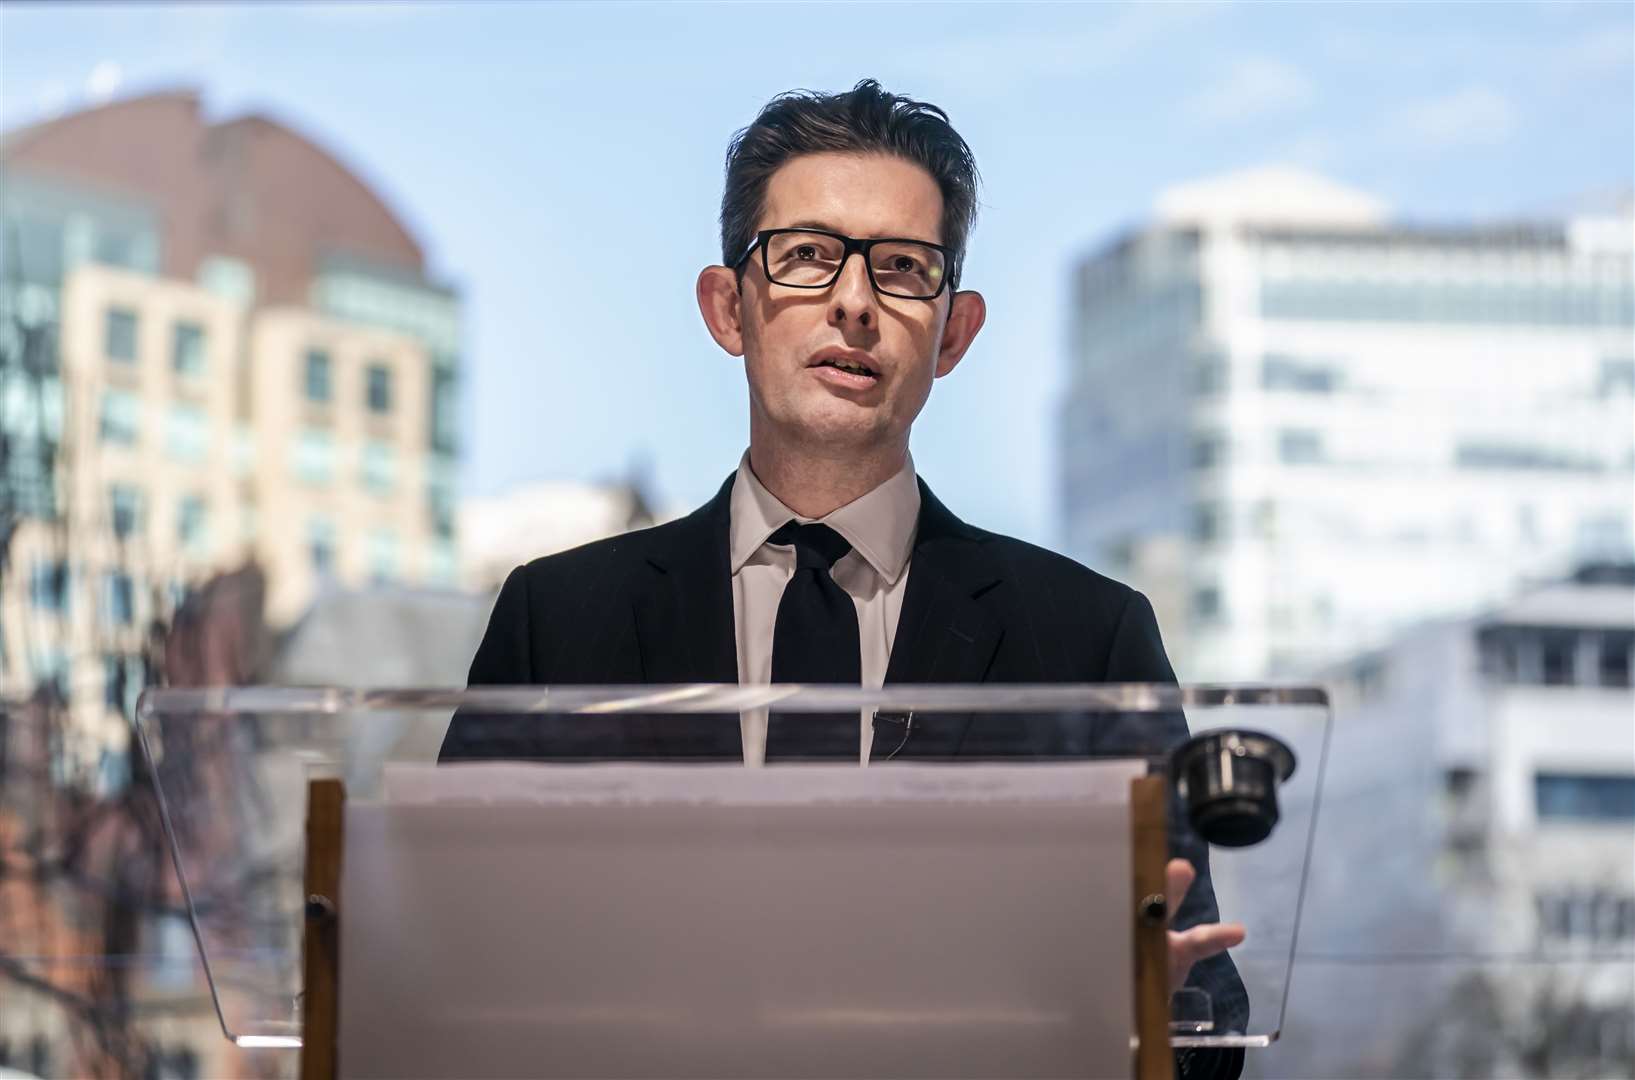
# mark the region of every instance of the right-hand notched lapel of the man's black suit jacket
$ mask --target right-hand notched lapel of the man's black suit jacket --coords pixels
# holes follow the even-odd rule
[[[981,683],[1004,627],[976,598],[997,585],[1002,573],[981,534],[953,516],[924,480],[919,487],[914,559],[886,665],[886,686]],[[870,758],[952,755],[968,722],[961,714],[922,714],[912,722],[878,717]]]

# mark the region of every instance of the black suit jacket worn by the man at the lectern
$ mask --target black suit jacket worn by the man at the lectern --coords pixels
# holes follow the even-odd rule
[[[924,480],[921,516],[886,685],[901,683],[1172,683],[1146,598],[1071,559],[973,528]],[[471,663],[473,685],[737,683],[728,554],[732,477],[692,515],[536,559],[500,588]],[[731,716],[456,714],[441,758],[741,760]],[[871,756],[1089,756],[1128,742],[1151,750],[1185,739],[1179,714],[1162,717],[924,714],[876,721]],[[855,727],[852,729],[855,732]],[[855,735],[853,735],[855,739]],[[855,743],[853,743],[855,745]],[[1182,843],[1198,881],[1176,925],[1216,922],[1205,846]],[[1216,1023],[1246,1029],[1249,1003],[1226,956],[1194,967]],[[1184,1075],[1234,1077],[1241,1052],[1182,1057]]]

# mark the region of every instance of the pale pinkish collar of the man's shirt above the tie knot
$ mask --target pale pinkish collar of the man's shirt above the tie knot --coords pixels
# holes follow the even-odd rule
[[[732,480],[731,500],[732,573],[744,569],[744,564],[760,551],[767,538],[791,520],[803,524],[821,521],[832,528],[888,585],[896,585],[898,578],[903,577],[903,570],[909,565],[909,554],[914,551],[921,498],[912,456],[904,459],[903,467],[889,480],[871,492],[822,518],[803,518],[767,490],[754,469],[749,467],[749,451],[744,451]]]

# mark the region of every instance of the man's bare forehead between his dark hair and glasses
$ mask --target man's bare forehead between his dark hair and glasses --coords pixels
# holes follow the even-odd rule
[[[759,229],[822,224],[853,237],[942,237],[942,191],[912,162],[885,154],[806,154],[767,183]]]

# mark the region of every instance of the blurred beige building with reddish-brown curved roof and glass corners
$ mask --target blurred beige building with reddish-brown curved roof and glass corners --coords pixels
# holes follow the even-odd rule
[[[0,694],[123,745],[141,654],[242,565],[453,585],[459,297],[332,152],[190,91],[0,142]]]

